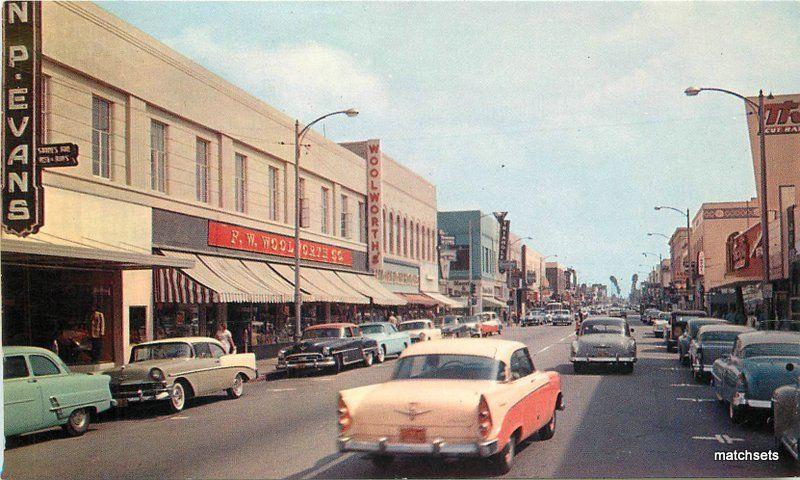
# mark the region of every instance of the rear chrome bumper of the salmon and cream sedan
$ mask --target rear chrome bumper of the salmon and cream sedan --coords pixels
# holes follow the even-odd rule
[[[336,444],[340,452],[369,452],[387,455],[431,455],[442,457],[490,457],[497,453],[497,440],[481,443],[390,443],[385,438],[377,442],[339,437]]]

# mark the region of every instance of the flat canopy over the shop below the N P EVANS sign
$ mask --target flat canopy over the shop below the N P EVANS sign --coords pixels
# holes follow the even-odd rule
[[[0,251],[3,263],[20,266],[58,266],[96,270],[149,270],[154,267],[193,266],[191,259],[10,238],[3,238],[0,241]]]

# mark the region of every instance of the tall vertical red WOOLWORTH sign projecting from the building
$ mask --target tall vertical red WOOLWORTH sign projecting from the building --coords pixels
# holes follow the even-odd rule
[[[370,271],[383,270],[383,205],[381,198],[381,144],[367,140],[367,262]]]

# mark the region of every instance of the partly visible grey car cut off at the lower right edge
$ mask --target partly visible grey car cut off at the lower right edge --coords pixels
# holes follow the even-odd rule
[[[772,394],[772,428],[775,445],[800,463],[800,364],[787,362],[786,371],[796,381]]]

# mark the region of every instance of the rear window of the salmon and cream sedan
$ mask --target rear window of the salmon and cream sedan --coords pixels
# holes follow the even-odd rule
[[[503,362],[477,355],[430,354],[403,357],[395,367],[394,380],[502,380]]]

